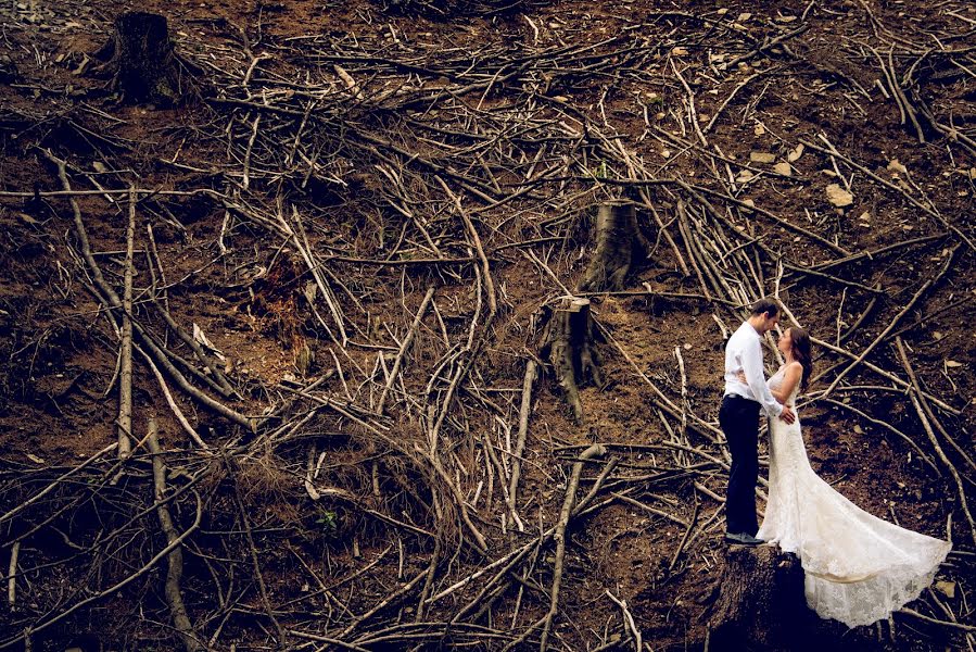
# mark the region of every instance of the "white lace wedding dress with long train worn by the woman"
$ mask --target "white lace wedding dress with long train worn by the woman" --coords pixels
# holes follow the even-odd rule
[[[783,376],[781,368],[770,388]],[[769,502],[757,536],[796,553],[807,604],[848,627],[887,618],[916,599],[952,548],[872,516],[822,480],[807,459],[799,418],[770,422]]]

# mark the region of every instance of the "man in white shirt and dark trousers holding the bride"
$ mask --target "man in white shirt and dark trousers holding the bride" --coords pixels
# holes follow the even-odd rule
[[[759,478],[759,411],[769,418],[791,424],[796,416],[781,405],[769,387],[762,367],[762,336],[779,321],[779,306],[760,299],[725,344],[725,396],[719,425],[732,452],[728,490],[725,494],[725,541],[743,546],[762,543],[756,538],[756,481]],[[743,383],[740,374],[745,376]]]

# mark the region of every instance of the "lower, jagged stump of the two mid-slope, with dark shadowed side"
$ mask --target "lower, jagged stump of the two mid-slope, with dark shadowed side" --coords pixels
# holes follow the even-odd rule
[[[592,378],[596,385],[603,385],[599,356],[594,347],[596,337],[590,315],[590,300],[567,297],[553,313],[543,340],[543,354],[548,351],[549,363],[576,422],[583,419],[580,384]]]

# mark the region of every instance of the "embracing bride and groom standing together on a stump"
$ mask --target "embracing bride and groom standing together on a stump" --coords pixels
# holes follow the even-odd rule
[[[804,572],[807,604],[848,627],[869,625],[916,599],[928,587],[951,543],[903,529],[864,512],[821,479],[803,447],[796,397],[812,369],[810,336],[787,328],[777,348],[784,365],[766,381],[761,338],[779,319],[775,301],[761,299],[725,347],[725,394],[719,424],[732,453],[725,540],[778,544]],[[756,518],[759,416],[770,435],[769,500]]]

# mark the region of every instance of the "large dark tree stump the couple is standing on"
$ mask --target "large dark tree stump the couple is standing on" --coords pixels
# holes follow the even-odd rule
[[[769,546],[731,546],[709,619],[710,650],[797,649],[809,610],[803,568],[794,554]]]

